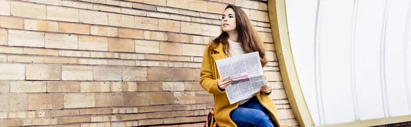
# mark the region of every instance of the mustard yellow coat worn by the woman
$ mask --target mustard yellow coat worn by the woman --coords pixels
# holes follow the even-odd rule
[[[238,107],[238,102],[234,104],[229,104],[227,95],[225,91],[221,91],[217,86],[219,77],[218,71],[216,69],[215,61],[219,59],[225,59],[226,55],[223,52],[223,44],[219,44],[214,48],[214,53],[212,57],[208,55],[208,45],[203,55],[203,63],[200,70],[200,84],[208,93],[214,94],[214,117],[219,126],[229,126],[234,127],[236,124],[229,117],[229,114]],[[269,111],[269,117],[274,120],[275,127],[281,126],[279,124],[279,119],[277,117],[277,108],[275,104],[269,98],[269,94],[264,94],[264,92],[258,91],[256,97],[262,106]]]

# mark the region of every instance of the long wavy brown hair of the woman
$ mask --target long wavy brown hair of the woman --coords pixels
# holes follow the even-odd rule
[[[240,43],[242,50],[244,50],[245,53],[258,51],[258,53],[260,54],[261,65],[264,67],[267,64],[265,49],[262,46],[262,42],[258,37],[256,29],[254,29],[254,27],[251,25],[247,14],[245,14],[245,12],[241,8],[235,5],[227,5],[225,10],[227,10],[228,8],[232,8],[236,16],[236,31],[238,31],[238,42]],[[214,48],[216,48],[216,46],[220,43],[223,43],[224,53],[226,55],[231,55],[229,53],[229,43],[227,42],[228,33],[223,31],[223,29],[221,29],[221,31],[222,33],[220,34],[220,36],[212,40],[212,42],[210,43],[210,46],[208,48],[210,57],[213,53]]]

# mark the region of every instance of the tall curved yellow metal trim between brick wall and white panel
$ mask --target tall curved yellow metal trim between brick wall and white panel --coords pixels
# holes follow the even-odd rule
[[[306,100],[304,100],[292,57],[285,0],[269,0],[268,9],[279,70],[291,110],[295,114],[299,126],[312,127],[314,122],[312,122]]]

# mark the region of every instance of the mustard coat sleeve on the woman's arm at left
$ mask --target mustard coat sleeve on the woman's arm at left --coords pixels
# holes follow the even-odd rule
[[[219,79],[213,79],[214,74],[212,71],[212,65],[214,61],[210,58],[208,55],[208,45],[206,47],[206,50],[204,51],[203,55],[203,62],[201,64],[201,70],[200,70],[200,85],[205,89],[208,93],[210,94],[224,94],[225,91],[221,91],[219,87],[217,86],[217,82]]]

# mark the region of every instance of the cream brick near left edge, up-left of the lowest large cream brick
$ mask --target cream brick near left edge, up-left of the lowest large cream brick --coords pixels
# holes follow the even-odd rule
[[[33,81],[14,81],[10,82],[10,92],[12,93],[34,93],[46,92],[47,85],[45,82]]]

